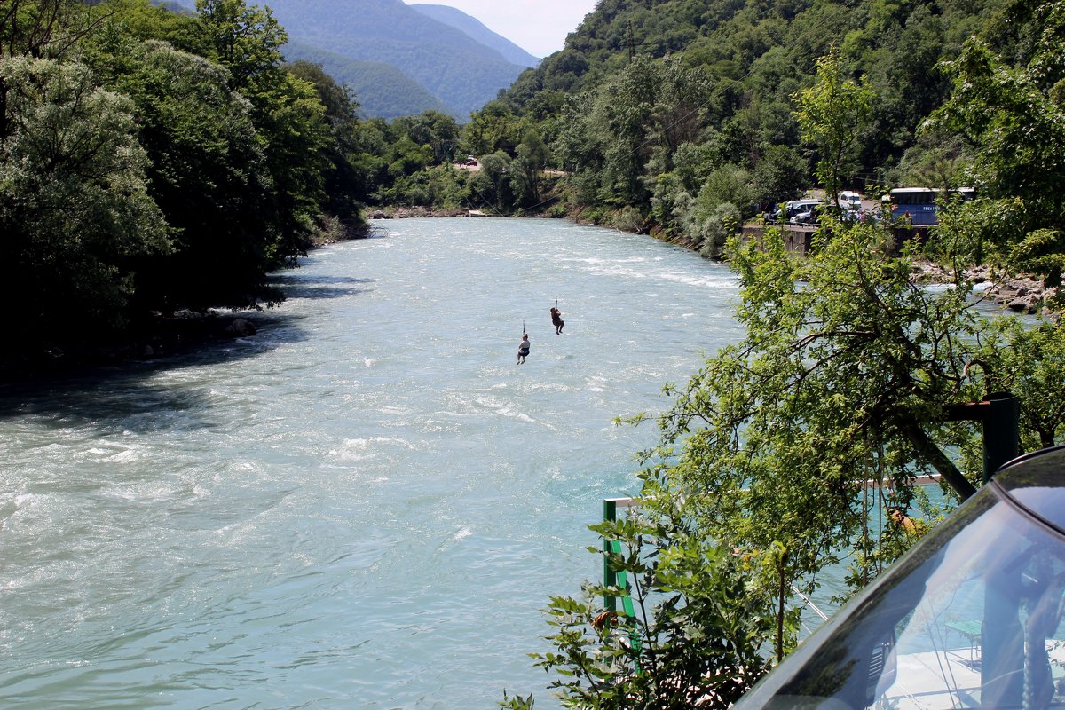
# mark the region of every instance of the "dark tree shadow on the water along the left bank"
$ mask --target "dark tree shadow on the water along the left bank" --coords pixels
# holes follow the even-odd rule
[[[82,365],[12,383],[0,383],[0,419],[20,416],[62,416],[64,424],[95,424],[109,429],[122,422],[131,427],[135,415],[181,412],[208,407],[202,391],[152,379],[178,371],[241,360],[250,360],[280,345],[306,341],[310,333],[299,326],[304,316],[279,313],[241,313],[251,321],[256,335],[211,339],[185,344],[163,357],[117,363]],[[164,416],[140,419],[143,428],[159,429]],[[204,422],[204,426],[207,423]]]

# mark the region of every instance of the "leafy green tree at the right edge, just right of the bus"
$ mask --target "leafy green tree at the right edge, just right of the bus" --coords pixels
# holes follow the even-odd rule
[[[968,257],[1058,284],[1065,271],[1065,12],[1043,4],[1033,27],[1038,39],[1023,67],[1007,66],[978,39],[945,62],[954,93],[925,130],[952,131],[972,147],[971,177],[985,199],[962,213]]]

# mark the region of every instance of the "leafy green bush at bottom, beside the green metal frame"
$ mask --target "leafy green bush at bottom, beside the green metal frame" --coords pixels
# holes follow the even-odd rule
[[[690,500],[645,473],[640,509],[592,527],[620,543],[609,554],[593,551],[632,585],[588,583],[580,598],[551,599],[547,639],[556,651],[534,658],[557,672],[552,687],[563,706],[726,708],[768,671],[774,649],[791,646],[798,612],[774,613],[782,609],[774,595],[783,548],[742,552],[709,541],[686,511]],[[627,605],[613,611],[597,602],[626,593],[630,616]]]

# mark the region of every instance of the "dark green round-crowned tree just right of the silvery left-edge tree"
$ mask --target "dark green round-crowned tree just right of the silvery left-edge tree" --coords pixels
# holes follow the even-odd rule
[[[122,67],[114,86],[136,105],[151,195],[178,247],[138,264],[145,308],[275,298],[262,287],[273,266],[275,185],[247,100],[223,67],[163,42],[136,43],[114,61]]]

